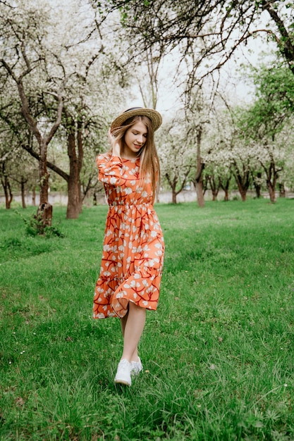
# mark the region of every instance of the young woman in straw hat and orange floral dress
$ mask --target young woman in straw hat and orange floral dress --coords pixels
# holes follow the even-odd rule
[[[164,238],[153,203],[160,170],[154,131],[161,115],[133,107],[111,124],[111,151],[97,157],[109,212],[94,318],[121,318],[123,354],[114,381],[131,385],[142,371],[137,352],[147,309],[157,309]]]

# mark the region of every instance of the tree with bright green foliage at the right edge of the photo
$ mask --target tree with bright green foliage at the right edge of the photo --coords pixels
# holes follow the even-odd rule
[[[294,77],[282,66],[262,66],[255,72],[256,98],[239,112],[240,135],[262,166],[271,202],[276,201],[278,174],[283,170],[281,131],[294,108]]]

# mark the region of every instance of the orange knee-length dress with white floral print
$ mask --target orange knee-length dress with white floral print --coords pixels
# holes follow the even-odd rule
[[[128,302],[157,309],[164,237],[152,204],[151,182],[140,186],[140,158],[97,157],[109,204],[94,318],[123,317]]]

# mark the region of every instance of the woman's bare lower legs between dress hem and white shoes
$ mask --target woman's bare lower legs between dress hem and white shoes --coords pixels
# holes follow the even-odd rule
[[[128,316],[121,319],[123,355],[121,359],[138,361],[137,345],[145,327],[146,309],[129,302]]]

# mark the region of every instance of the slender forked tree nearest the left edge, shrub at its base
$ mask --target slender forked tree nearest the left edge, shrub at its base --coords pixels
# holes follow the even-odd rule
[[[47,77],[41,75],[40,68],[49,69],[51,56],[44,45],[44,27],[46,27],[46,11],[36,11],[28,7],[26,11],[19,8],[4,8],[0,20],[4,32],[5,44],[2,45],[0,66],[8,75],[7,85],[13,83],[17,88],[20,108],[23,118],[37,139],[39,145],[39,193],[40,201],[37,216],[42,218],[41,230],[51,225],[52,207],[48,202],[49,173],[47,172],[47,149],[61,123],[63,108],[63,89],[66,79],[55,77],[51,81],[50,95],[56,97],[56,105],[51,104],[51,117],[37,118],[32,112],[29,99],[30,85],[28,78],[34,75],[35,80],[47,82]],[[48,56],[48,58],[47,58]],[[37,103],[36,103],[37,104]],[[55,104],[55,103],[54,103]],[[35,110],[36,106],[34,106]]]

